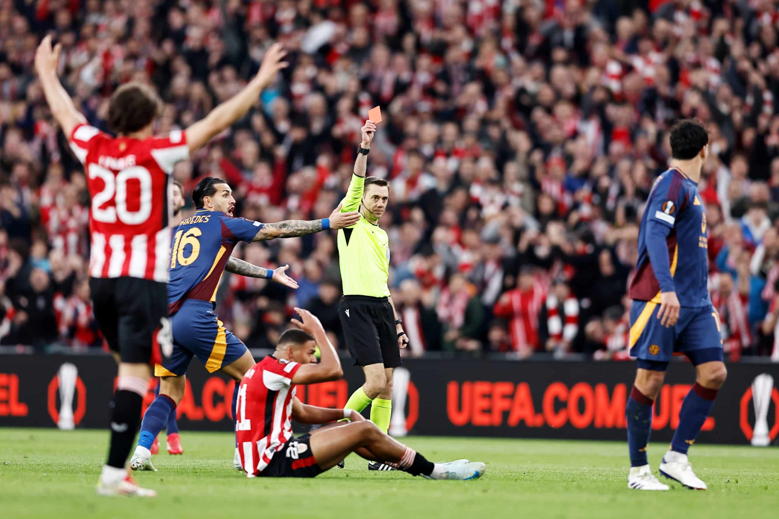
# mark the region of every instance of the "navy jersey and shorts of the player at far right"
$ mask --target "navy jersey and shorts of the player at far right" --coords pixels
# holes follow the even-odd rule
[[[693,364],[722,360],[719,316],[708,282],[707,224],[698,184],[671,168],[657,177],[643,211],[638,261],[629,296],[630,356],[639,367],[664,370],[675,353]],[[675,292],[679,320],[669,328],[657,318],[661,293]]]

